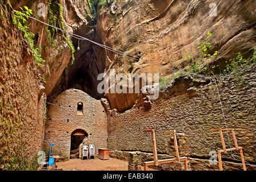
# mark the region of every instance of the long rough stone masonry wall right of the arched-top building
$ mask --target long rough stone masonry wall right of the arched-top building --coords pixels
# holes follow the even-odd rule
[[[200,84],[199,84],[200,83]],[[219,78],[218,88],[227,127],[233,128],[238,146],[243,147],[247,162],[256,158],[256,74],[255,66],[243,73]],[[193,88],[193,89],[191,89]],[[189,90],[189,92],[187,91]],[[193,94],[191,94],[191,90]],[[210,81],[195,81],[181,77],[170,85],[169,91],[152,102],[150,110],[136,107],[116,117],[109,117],[108,135],[110,150],[153,152],[150,134],[142,131],[155,129],[158,154],[175,155],[170,136],[165,131],[185,133],[189,149],[181,155],[209,159],[210,151],[222,148],[219,133],[210,129],[225,128],[217,88]],[[229,148],[227,133],[224,132]],[[231,147],[234,146],[231,133]],[[241,160],[239,152],[233,152]],[[230,153],[222,155],[223,161],[235,161]]]

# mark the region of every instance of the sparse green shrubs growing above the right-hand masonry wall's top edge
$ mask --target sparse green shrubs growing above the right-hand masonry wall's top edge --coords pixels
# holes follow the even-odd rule
[[[220,28],[220,27],[218,27]],[[223,28],[222,35],[226,35],[227,28]],[[249,57],[248,59],[245,59],[241,52],[238,52],[237,57],[234,59],[226,60],[225,65],[222,68],[217,64],[218,55],[219,55],[219,49],[217,47],[211,46],[211,43],[209,40],[215,40],[213,38],[213,34],[211,32],[207,32],[207,36],[204,39],[205,41],[198,46],[197,48],[194,48],[193,51],[195,55],[192,55],[191,50],[186,51],[186,55],[181,55],[183,63],[186,63],[186,67],[183,70],[177,71],[175,74],[175,77],[172,79],[174,80],[177,77],[180,76],[187,76],[187,75],[202,75],[206,77],[215,76],[214,71],[218,72],[219,76],[225,76],[229,74],[237,75],[237,79],[239,78],[239,74],[245,71],[246,69],[249,69],[251,67],[254,67],[256,64],[256,48],[254,48],[253,55]],[[222,43],[222,39],[219,45]],[[179,65],[177,63],[177,65]],[[161,90],[165,90],[167,85],[170,83],[170,78],[161,78],[159,81],[159,88]],[[245,83],[242,83],[245,84]]]

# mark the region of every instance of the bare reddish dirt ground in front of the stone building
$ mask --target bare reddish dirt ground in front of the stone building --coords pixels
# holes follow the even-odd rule
[[[63,171],[128,171],[128,162],[114,158],[109,160],[70,159],[66,162],[57,162],[56,165],[57,170],[63,169]]]

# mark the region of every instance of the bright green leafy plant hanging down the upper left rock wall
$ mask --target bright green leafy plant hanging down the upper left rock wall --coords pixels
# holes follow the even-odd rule
[[[43,60],[41,55],[41,47],[37,47],[34,45],[35,34],[29,31],[29,27],[27,25],[27,19],[29,19],[29,16],[33,14],[32,10],[30,10],[27,6],[24,6],[25,10],[23,10],[21,7],[20,9],[22,11],[14,10],[15,14],[13,18],[13,24],[18,26],[19,30],[23,31],[23,36],[29,42],[29,46],[33,52],[33,56],[37,65],[39,67],[44,67],[45,60]]]

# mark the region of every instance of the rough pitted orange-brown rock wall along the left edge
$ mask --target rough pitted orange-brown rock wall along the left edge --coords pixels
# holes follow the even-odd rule
[[[0,168],[37,167],[41,151],[46,96],[29,44],[0,5]]]

